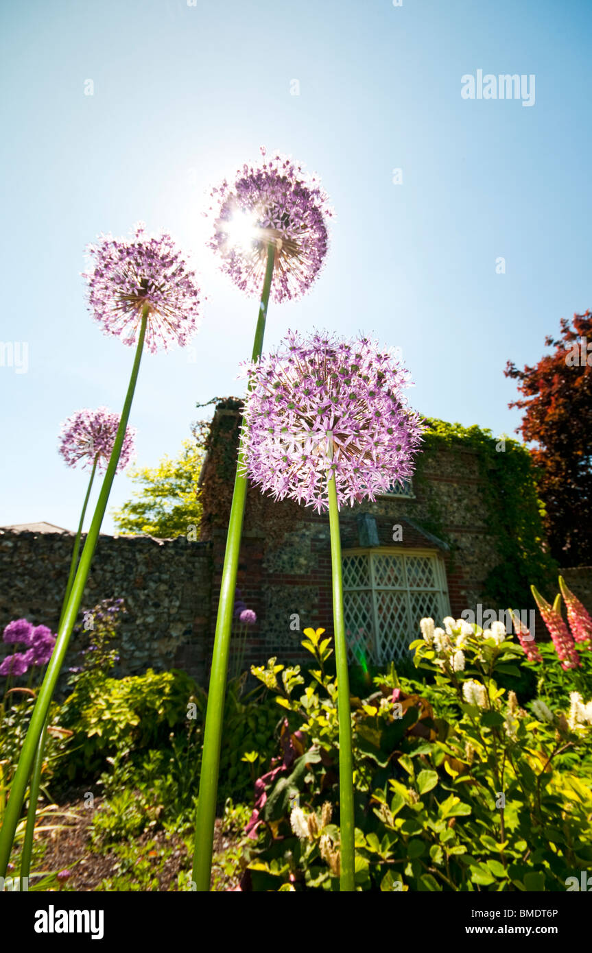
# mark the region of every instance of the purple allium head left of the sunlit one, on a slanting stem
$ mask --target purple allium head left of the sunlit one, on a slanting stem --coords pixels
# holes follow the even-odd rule
[[[105,334],[124,344],[137,340],[142,310],[150,308],[145,343],[155,354],[184,347],[197,330],[199,288],[170,234],[148,237],[142,222],[133,238],[99,235],[88,251],[94,268],[84,273],[89,305]]]

